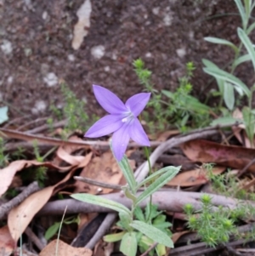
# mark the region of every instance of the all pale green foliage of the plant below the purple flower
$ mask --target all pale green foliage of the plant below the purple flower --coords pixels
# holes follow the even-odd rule
[[[167,233],[167,228],[170,226],[166,218],[157,212],[156,208],[148,204],[145,213],[143,214],[139,208],[139,203],[150,197],[154,192],[159,190],[161,186],[165,185],[167,181],[173,179],[178,174],[179,168],[166,167],[157,171],[145,179],[145,182],[137,183],[134,179],[133,170],[124,156],[118,162],[124,177],[127,179],[127,185],[122,188],[124,195],[132,202],[131,210],[118,202],[113,202],[109,199],[100,196],[89,194],[74,194],[73,198],[82,202],[88,202],[99,205],[105,208],[111,208],[119,213],[120,221],[117,225],[123,230],[121,234],[113,234],[105,236],[105,241],[116,242],[121,240],[121,251],[127,256],[135,256],[137,253],[137,245],[144,248],[144,241],[147,241],[147,246],[153,242],[159,242],[156,248],[158,255],[163,255],[164,248],[173,247],[173,242]],[[139,188],[144,187],[145,183],[149,183],[144,191],[137,195]],[[136,220],[135,217],[138,219]],[[148,242],[150,241],[150,242]]]

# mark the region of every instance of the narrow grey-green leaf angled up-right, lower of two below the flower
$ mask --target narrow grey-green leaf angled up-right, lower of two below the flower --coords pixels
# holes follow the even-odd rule
[[[149,185],[147,189],[145,189],[137,198],[136,205],[140,202],[143,202],[144,199],[150,195],[152,195],[155,191],[159,190],[163,185],[167,184],[170,179],[178,174],[180,167],[168,167],[169,169],[165,174],[162,174],[156,181]]]

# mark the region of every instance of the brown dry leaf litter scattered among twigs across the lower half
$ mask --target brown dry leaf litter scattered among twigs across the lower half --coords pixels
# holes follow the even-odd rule
[[[234,136],[240,142],[244,141],[241,139],[241,136],[246,135],[241,135],[241,128],[238,128],[238,131],[235,127],[232,129]],[[14,138],[17,137],[15,134],[19,134],[19,137],[21,136],[21,138],[25,140],[27,138],[26,134],[24,137],[22,137],[22,133],[16,133],[15,131],[11,130],[7,134],[9,138],[11,138],[11,134],[14,134]],[[175,135],[178,135],[178,131],[173,130],[161,134],[151,134],[150,138],[156,138],[157,141],[161,141],[161,143],[165,143],[164,141],[167,143],[167,139],[169,140],[169,137],[174,139]],[[38,138],[38,136],[35,135],[35,138]],[[43,140],[43,136],[40,138]],[[31,140],[30,136],[28,140]],[[69,143],[69,141],[71,141],[71,143]],[[65,198],[70,198],[68,195],[71,193],[85,192],[93,195],[111,195],[111,193],[116,192],[111,188],[106,188],[104,186],[101,187],[93,184],[85,184],[80,180],[74,180],[72,179],[73,176],[78,174],[81,177],[100,181],[102,184],[125,185],[122,172],[118,167],[115,158],[112,156],[111,151],[106,150],[107,148],[98,148],[97,151],[95,151],[91,145],[86,145],[83,142],[84,140],[79,136],[71,135],[69,139],[62,140],[61,143],[58,142],[59,146],[54,151],[54,154],[49,156],[44,162],[38,162],[35,159],[16,160],[9,162],[6,167],[0,169],[0,179],[2,180],[0,185],[0,193],[2,196],[5,195],[4,193],[6,193],[10,187],[17,188],[19,186],[19,183],[12,185],[13,181],[14,179],[17,179],[17,174],[26,173],[27,168],[45,167],[48,168],[48,172],[50,172],[51,175],[59,177],[59,181],[55,182],[54,185],[51,184],[51,180],[47,181],[46,179],[46,186],[44,188],[42,188],[40,191],[32,193],[30,196],[27,196],[26,199],[20,202],[17,207],[10,210],[7,216],[8,225],[3,225],[0,229],[0,249],[4,249],[5,252],[11,253],[18,245],[17,242],[19,241],[20,236],[23,236],[22,234],[24,234],[26,228],[31,226],[31,223],[34,221],[36,221],[37,224],[40,224],[40,217],[37,217],[37,213],[40,212],[40,209],[43,208],[47,202],[54,202],[54,200],[58,200],[58,196],[62,195]],[[246,143],[242,146],[222,145],[203,139],[189,139],[187,142],[180,145],[180,149],[183,151],[182,159],[187,157],[187,162],[195,162],[197,164],[197,168],[182,171],[175,178],[170,180],[167,183],[167,187],[171,187],[173,191],[193,188],[193,191],[195,190],[199,192],[199,188],[203,185],[210,185],[211,181],[208,178],[207,170],[202,166],[204,163],[213,162],[217,164],[212,168],[213,175],[224,174],[227,168],[237,169],[235,172],[232,171],[232,174],[236,175],[241,169],[245,168],[246,165],[253,160],[255,153],[255,150],[249,148],[249,145]],[[136,166],[136,162],[131,158],[133,156],[133,152],[137,150],[137,148],[134,148],[131,151],[127,151],[127,156],[130,158],[134,171],[138,167]],[[171,165],[169,162],[164,163],[164,158],[161,159],[162,162],[156,163],[157,165]],[[171,159],[171,157],[169,159]],[[247,168],[247,171],[253,175],[253,172],[255,172],[255,165],[251,165],[249,168]],[[252,184],[255,183],[254,180],[255,178],[253,176],[251,178],[240,179],[240,185],[242,188],[249,189]],[[78,227],[81,228],[84,225],[87,226],[87,229],[85,230],[88,230],[88,225],[95,216],[96,213],[80,213],[80,222],[77,225],[77,228],[75,228],[74,234],[78,234]],[[178,218],[183,219],[183,215],[182,213],[173,213],[171,214],[171,218],[176,218],[175,221],[178,223]],[[52,221],[54,221],[54,215],[48,216],[48,219],[52,219]],[[69,227],[69,225],[67,226]],[[70,228],[71,226],[69,227],[69,230]],[[62,229],[62,232],[64,232],[64,230],[65,228]],[[190,231],[186,230],[184,226],[181,228],[176,226],[176,231],[174,231],[173,226],[172,231],[174,243],[178,242],[180,237],[185,237],[190,234]],[[68,232],[73,233],[73,230]],[[49,240],[44,249],[41,252],[37,251],[37,253],[41,256],[54,255],[56,252],[56,247],[58,247],[59,256],[92,255],[93,251],[84,246],[85,245],[82,245],[82,247],[73,247],[71,246],[71,243],[68,244],[65,242],[65,236],[60,236],[60,239],[52,241]],[[103,242],[98,242],[96,248],[97,251],[100,250],[101,253],[106,253],[107,251]]]

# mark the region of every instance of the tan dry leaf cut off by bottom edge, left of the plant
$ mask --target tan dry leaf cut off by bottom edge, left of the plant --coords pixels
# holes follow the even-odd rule
[[[61,240],[54,240],[44,247],[39,256],[91,256],[92,251],[86,247],[72,247]]]

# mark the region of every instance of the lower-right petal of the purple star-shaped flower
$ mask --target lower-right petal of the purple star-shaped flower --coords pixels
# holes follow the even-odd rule
[[[150,146],[150,140],[147,134],[144,132],[144,128],[140,124],[138,118],[134,118],[132,124],[129,125],[128,134],[130,138],[133,139],[139,145]]]

